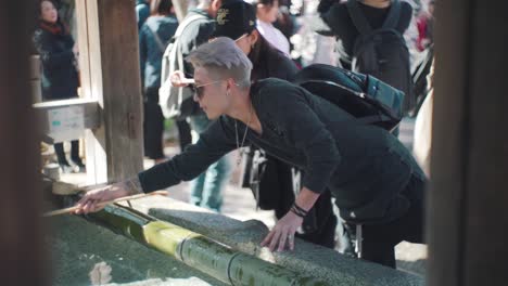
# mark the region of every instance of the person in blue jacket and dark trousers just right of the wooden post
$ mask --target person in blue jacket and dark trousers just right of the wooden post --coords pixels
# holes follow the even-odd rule
[[[165,159],[164,116],[158,105],[162,57],[167,43],[175,35],[178,21],[173,14],[170,0],[152,0],[150,9],[151,16],[139,31],[141,82],[144,87],[144,156],[158,164]]]

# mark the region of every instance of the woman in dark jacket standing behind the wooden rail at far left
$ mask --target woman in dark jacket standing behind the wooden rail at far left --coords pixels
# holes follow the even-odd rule
[[[56,5],[50,0],[40,2],[39,27],[34,34],[34,44],[42,63],[42,99],[45,101],[77,98],[77,43],[59,18]],[[85,171],[79,157],[79,141],[71,142],[72,167],[65,157],[63,143],[54,144],[63,172]]]

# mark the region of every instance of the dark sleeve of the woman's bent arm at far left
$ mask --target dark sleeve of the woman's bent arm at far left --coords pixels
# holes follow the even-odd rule
[[[74,61],[72,49],[54,52],[49,37],[42,30],[37,30],[34,34],[34,44],[42,64],[49,68],[66,67],[72,65]],[[72,40],[72,44],[74,44],[74,40]]]

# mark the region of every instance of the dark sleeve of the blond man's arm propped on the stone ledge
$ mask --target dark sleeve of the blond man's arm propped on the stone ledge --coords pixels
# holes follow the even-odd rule
[[[274,93],[270,100],[274,100],[271,113],[276,121],[285,131],[289,142],[305,154],[303,186],[322,193],[341,159],[335,140],[305,98],[297,94],[303,92],[297,87],[284,84],[269,92]]]

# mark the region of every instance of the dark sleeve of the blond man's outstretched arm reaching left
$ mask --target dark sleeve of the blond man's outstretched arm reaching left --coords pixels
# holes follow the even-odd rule
[[[141,187],[144,193],[149,193],[192,180],[236,147],[234,133],[226,119],[219,118],[200,134],[195,144],[189,145],[181,154],[140,172],[138,178]]]

